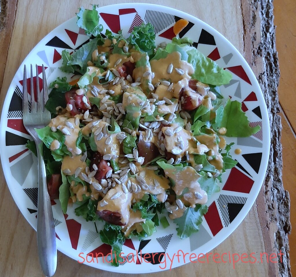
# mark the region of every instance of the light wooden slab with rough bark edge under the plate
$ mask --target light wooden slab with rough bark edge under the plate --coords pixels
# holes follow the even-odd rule
[[[0,26],[3,26],[0,33],[1,102],[20,63],[38,41],[56,26],[73,17],[77,7],[89,7],[88,5],[93,3],[89,0],[7,2],[6,7],[1,5],[0,18]],[[101,0],[100,5],[119,2],[131,0]],[[226,36],[253,68],[266,98],[272,123],[270,163],[265,184],[249,214],[237,230],[213,252],[271,254],[279,252],[280,249],[284,252],[283,263],[239,262],[235,270],[233,264],[228,263],[188,264],[150,276],[290,276],[287,252],[287,233],[290,231],[289,195],[284,191],[281,182],[281,119],[276,114],[279,111],[276,92],[279,69],[275,50],[272,1],[209,0],[206,1],[207,4],[202,0],[139,2],[166,5],[199,17]],[[6,17],[3,18],[2,15]],[[36,233],[17,209],[2,172],[0,180],[0,276],[42,276],[37,255]],[[58,254],[56,276],[94,275],[120,276],[80,265],[69,257]]]

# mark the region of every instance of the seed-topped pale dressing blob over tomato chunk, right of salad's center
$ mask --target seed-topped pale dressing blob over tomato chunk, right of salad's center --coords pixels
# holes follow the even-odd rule
[[[184,148],[181,149],[180,154],[177,154],[178,157],[183,157],[185,155],[185,152],[188,150],[189,153],[196,152],[196,141],[194,141],[194,138],[192,136],[192,132],[186,131],[184,128],[181,129],[178,133],[173,133],[172,136],[168,136],[165,131],[167,129],[174,131],[175,128],[177,128],[179,125],[176,123],[170,124],[170,127],[163,127],[161,128],[161,131],[163,131],[163,134],[165,135],[164,144],[165,148],[168,152],[173,153],[173,149],[178,148],[176,145],[178,143],[178,140],[182,140],[184,143]],[[173,153],[174,154],[174,153]]]

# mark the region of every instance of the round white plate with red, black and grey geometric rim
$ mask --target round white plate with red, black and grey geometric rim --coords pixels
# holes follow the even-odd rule
[[[170,221],[168,228],[157,227],[157,232],[147,240],[126,240],[122,254],[126,258],[125,263],[118,267],[111,266],[108,259],[102,260],[102,255],[106,258],[110,253],[110,246],[102,244],[97,233],[103,224],[95,225],[75,216],[72,207],[64,215],[59,201],[52,201],[59,251],[74,260],[104,270],[122,273],[156,272],[168,269],[170,265],[167,262],[165,267],[165,258],[168,261],[167,255],[172,257],[178,250],[197,255],[209,252],[226,239],[247,215],[266,173],[270,145],[268,113],[259,84],[247,62],[226,38],[201,20],[172,8],[151,4],[117,4],[100,7],[98,10],[104,30],[107,28],[116,33],[122,29],[124,36],[129,36],[134,26],[150,22],[155,29],[157,44],[169,42],[174,37],[173,25],[177,20],[188,20],[189,24],[179,36],[191,38],[198,50],[231,71],[233,79],[228,85],[221,86],[223,96],[242,102],[242,109],[247,113],[250,125],[261,127],[251,137],[226,139],[227,143],[235,143],[231,154],[238,163],[223,174],[221,191],[209,199],[209,209],[203,217],[199,232],[181,240],[176,235],[176,225]],[[25,148],[30,136],[22,123],[23,68],[24,65],[28,68],[30,64],[44,64],[47,81],[50,83],[58,76],[67,75],[59,70],[62,50],[74,51],[87,41],[89,37],[77,27],[76,17],[55,28],[25,58],[12,80],[4,102],[1,116],[1,162],[12,197],[34,229],[37,224],[37,159]],[[39,67],[40,76],[41,70]],[[34,77],[34,81],[37,82],[37,77]],[[235,155],[235,148],[241,148],[242,154]],[[92,260],[90,254],[86,260],[89,253],[93,253],[94,257],[97,255],[98,259]],[[151,255],[146,255],[144,259],[145,254]],[[185,262],[189,262],[189,255],[186,255]],[[182,258],[180,262],[174,259],[172,268],[182,264]]]

